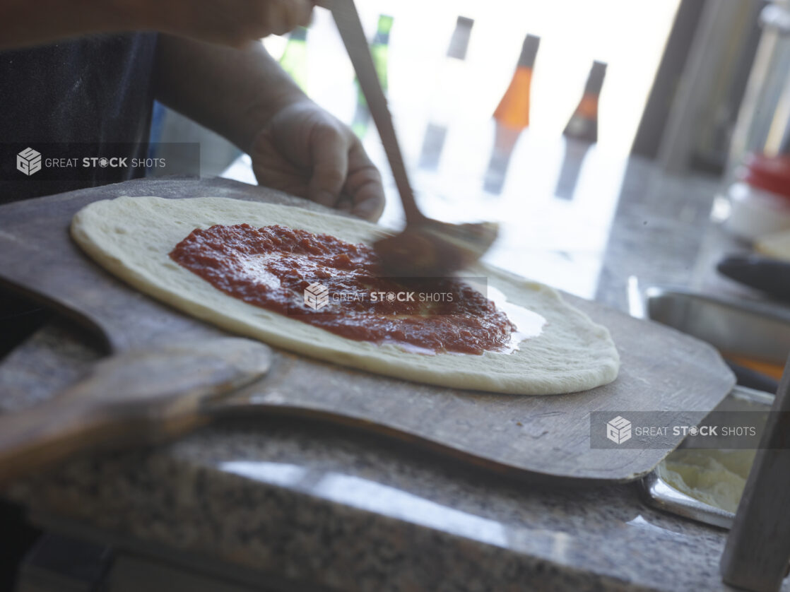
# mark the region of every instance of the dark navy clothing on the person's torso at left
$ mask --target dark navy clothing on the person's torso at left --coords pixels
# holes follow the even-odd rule
[[[44,159],[144,158],[155,58],[155,33],[86,36],[0,53],[0,203],[145,174],[145,167],[126,166],[27,175],[17,170],[17,153],[30,147]]]

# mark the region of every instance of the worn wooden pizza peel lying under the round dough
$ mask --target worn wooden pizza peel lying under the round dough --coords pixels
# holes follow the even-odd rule
[[[73,243],[69,225],[77,211],[122,195],[230,197],[327,211],[272,189],[180,178],[142,179],[0,207],[0,286],[76,319],[96,332],[108,354],[119,355],[156,350],[164,342],[228,337],[115,279]],[[613,383],[568,395],[498,395],[381,377],[273,350],[264,377],[229,395],[213,392],[210,404],[195,406],[194,414],[248,418],[257,411],[320,418],[535,481],[640,478],[682,437],[669,436],[662,449],[591,448],[590,413],[675,411],[698,422],[724,399],[734,377],[713,347],[697,339],[570,294],[564,297],[611,331],[621,356]]]

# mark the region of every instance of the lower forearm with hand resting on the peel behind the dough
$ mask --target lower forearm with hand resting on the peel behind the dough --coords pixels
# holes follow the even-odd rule
[[[156,98],[250,154],[262,185],[378,219],[381,176],[351,129],[313,103],[261,43],[160,36]]]

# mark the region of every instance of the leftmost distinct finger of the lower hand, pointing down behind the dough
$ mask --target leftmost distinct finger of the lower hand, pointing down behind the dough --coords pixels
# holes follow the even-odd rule
[[[334,126],[316,126],[310,141],[313,170],[308,197],[333,208],[340,196],[348,171],[348,140]]]

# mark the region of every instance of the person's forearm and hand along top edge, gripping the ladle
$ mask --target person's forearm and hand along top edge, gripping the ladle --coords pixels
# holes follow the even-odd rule
[[[2,0],[0,50],[122,31],[241,47],[306,25],[312,8],[310,0]]]

